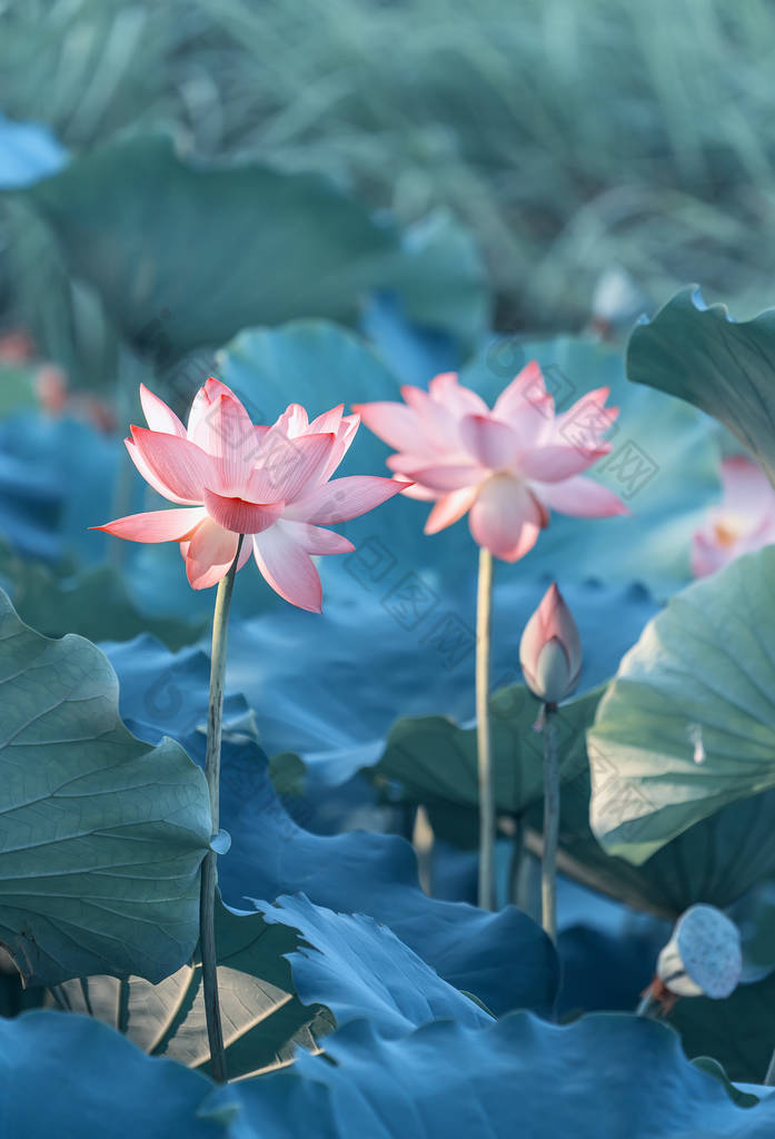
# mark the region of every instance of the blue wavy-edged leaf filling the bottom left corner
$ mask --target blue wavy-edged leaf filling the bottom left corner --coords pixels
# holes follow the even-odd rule
[[[0,1019],[3,1134],[57,1139],[224,1139],[213,1083],[143,1055],[106,1024],[53,1011]]]

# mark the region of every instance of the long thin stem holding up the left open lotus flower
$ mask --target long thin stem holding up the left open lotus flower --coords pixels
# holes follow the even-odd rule
[[[223,688],[226,672],[226,633],[229,608],[237,576],[237,563],[242,548],[240,535],[234,560],[225,577],[219,582],[213,614],[213,653],[209,671],[209,704],[207,707],[207,751],[205,777],[209,792],[213,834],[219,829],[219,798],[221,785],[221,724],[223,721]],[[199,899],[199,951],[201,953],[201,983],[207,1019],[207,1040],[213,1079],[225,1083],[226,1057],[223,1048],[221,1003],[219,1000],[217,954],[215,947],[215,890],[217,886],[217,854],[207,851],[201,865],[201,893]]]

